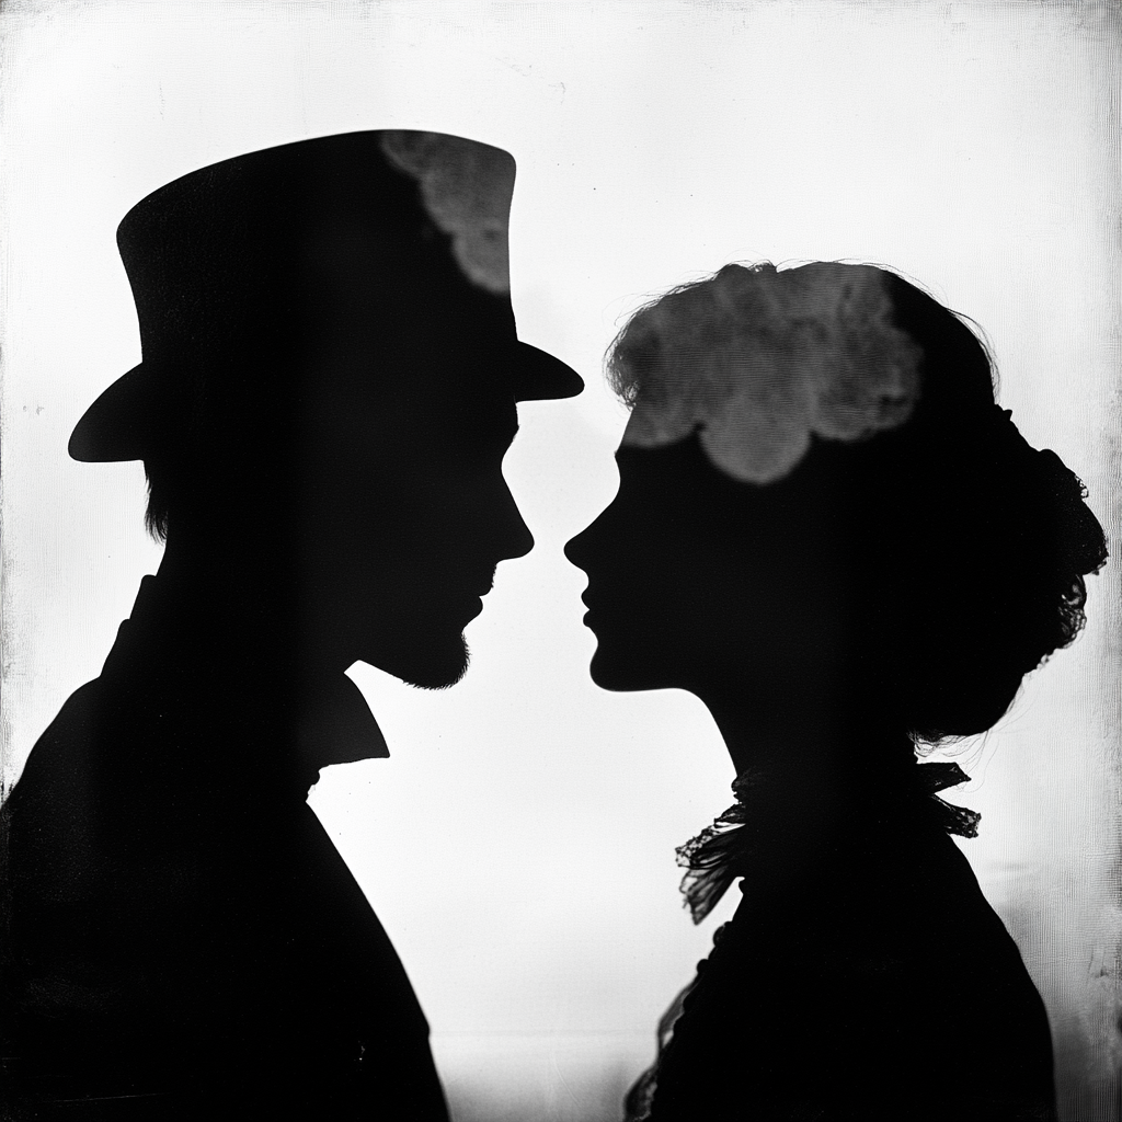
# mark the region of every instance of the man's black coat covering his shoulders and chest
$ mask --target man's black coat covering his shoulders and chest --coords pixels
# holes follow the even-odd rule
[[[122,631],[4,806],[9,1110],[444,1122],[405,972],[305,802],[287,700],[149,638]]]

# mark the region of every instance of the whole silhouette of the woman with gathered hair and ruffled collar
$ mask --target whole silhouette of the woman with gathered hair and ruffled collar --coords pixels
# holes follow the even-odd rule
[[[1039,994],[947,836],[981,733],[1084,622],[1079,480],[988,356],[893,274],[730,265],[609,352],[632,406],[587,570],[613,690],[709,707],[736,804],[679,850],[696,919],[744,899],[660,1026],[632,1119],[1055,1119]]]

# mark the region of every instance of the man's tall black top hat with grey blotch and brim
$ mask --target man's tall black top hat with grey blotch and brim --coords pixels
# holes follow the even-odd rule
[[[456,316],[486,350],[484,376],[516,401],[580,393],[574,371],[515,334],[513,188],[502,149],[364,131],[237,156],[153,192],[117,230],[144,360],[86,410],[70,454],[104,462],[160,448],[181,424],[192,368],[219,371],[205,395],[219,411],[247,386],[275,393],[266,371],[285,368],[288,385],[293,371],[314,376],[340,314],[398,333]]]

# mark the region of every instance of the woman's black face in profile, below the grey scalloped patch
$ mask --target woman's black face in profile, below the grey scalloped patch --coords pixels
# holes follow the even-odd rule
[[[816,640],[819,653],[835,647],[837,622],[829,548],[807,488],[734,480],[696,433],[624,445],[616,462],[615,499],[565,546],[588,574],[592,680],[701,696],[725,681],[761,698],[798,689]]]

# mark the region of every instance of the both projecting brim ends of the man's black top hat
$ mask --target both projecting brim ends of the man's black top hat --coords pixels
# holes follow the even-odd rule
[[[571,367],[519,340],[512,370],[518,402],[573,397],[585,388]],[[163,427],[156,401],[158,375],[144,364],[121,375],[85,411],[71,433],[67,451],[81,463],[142,460],[160,440]]]

